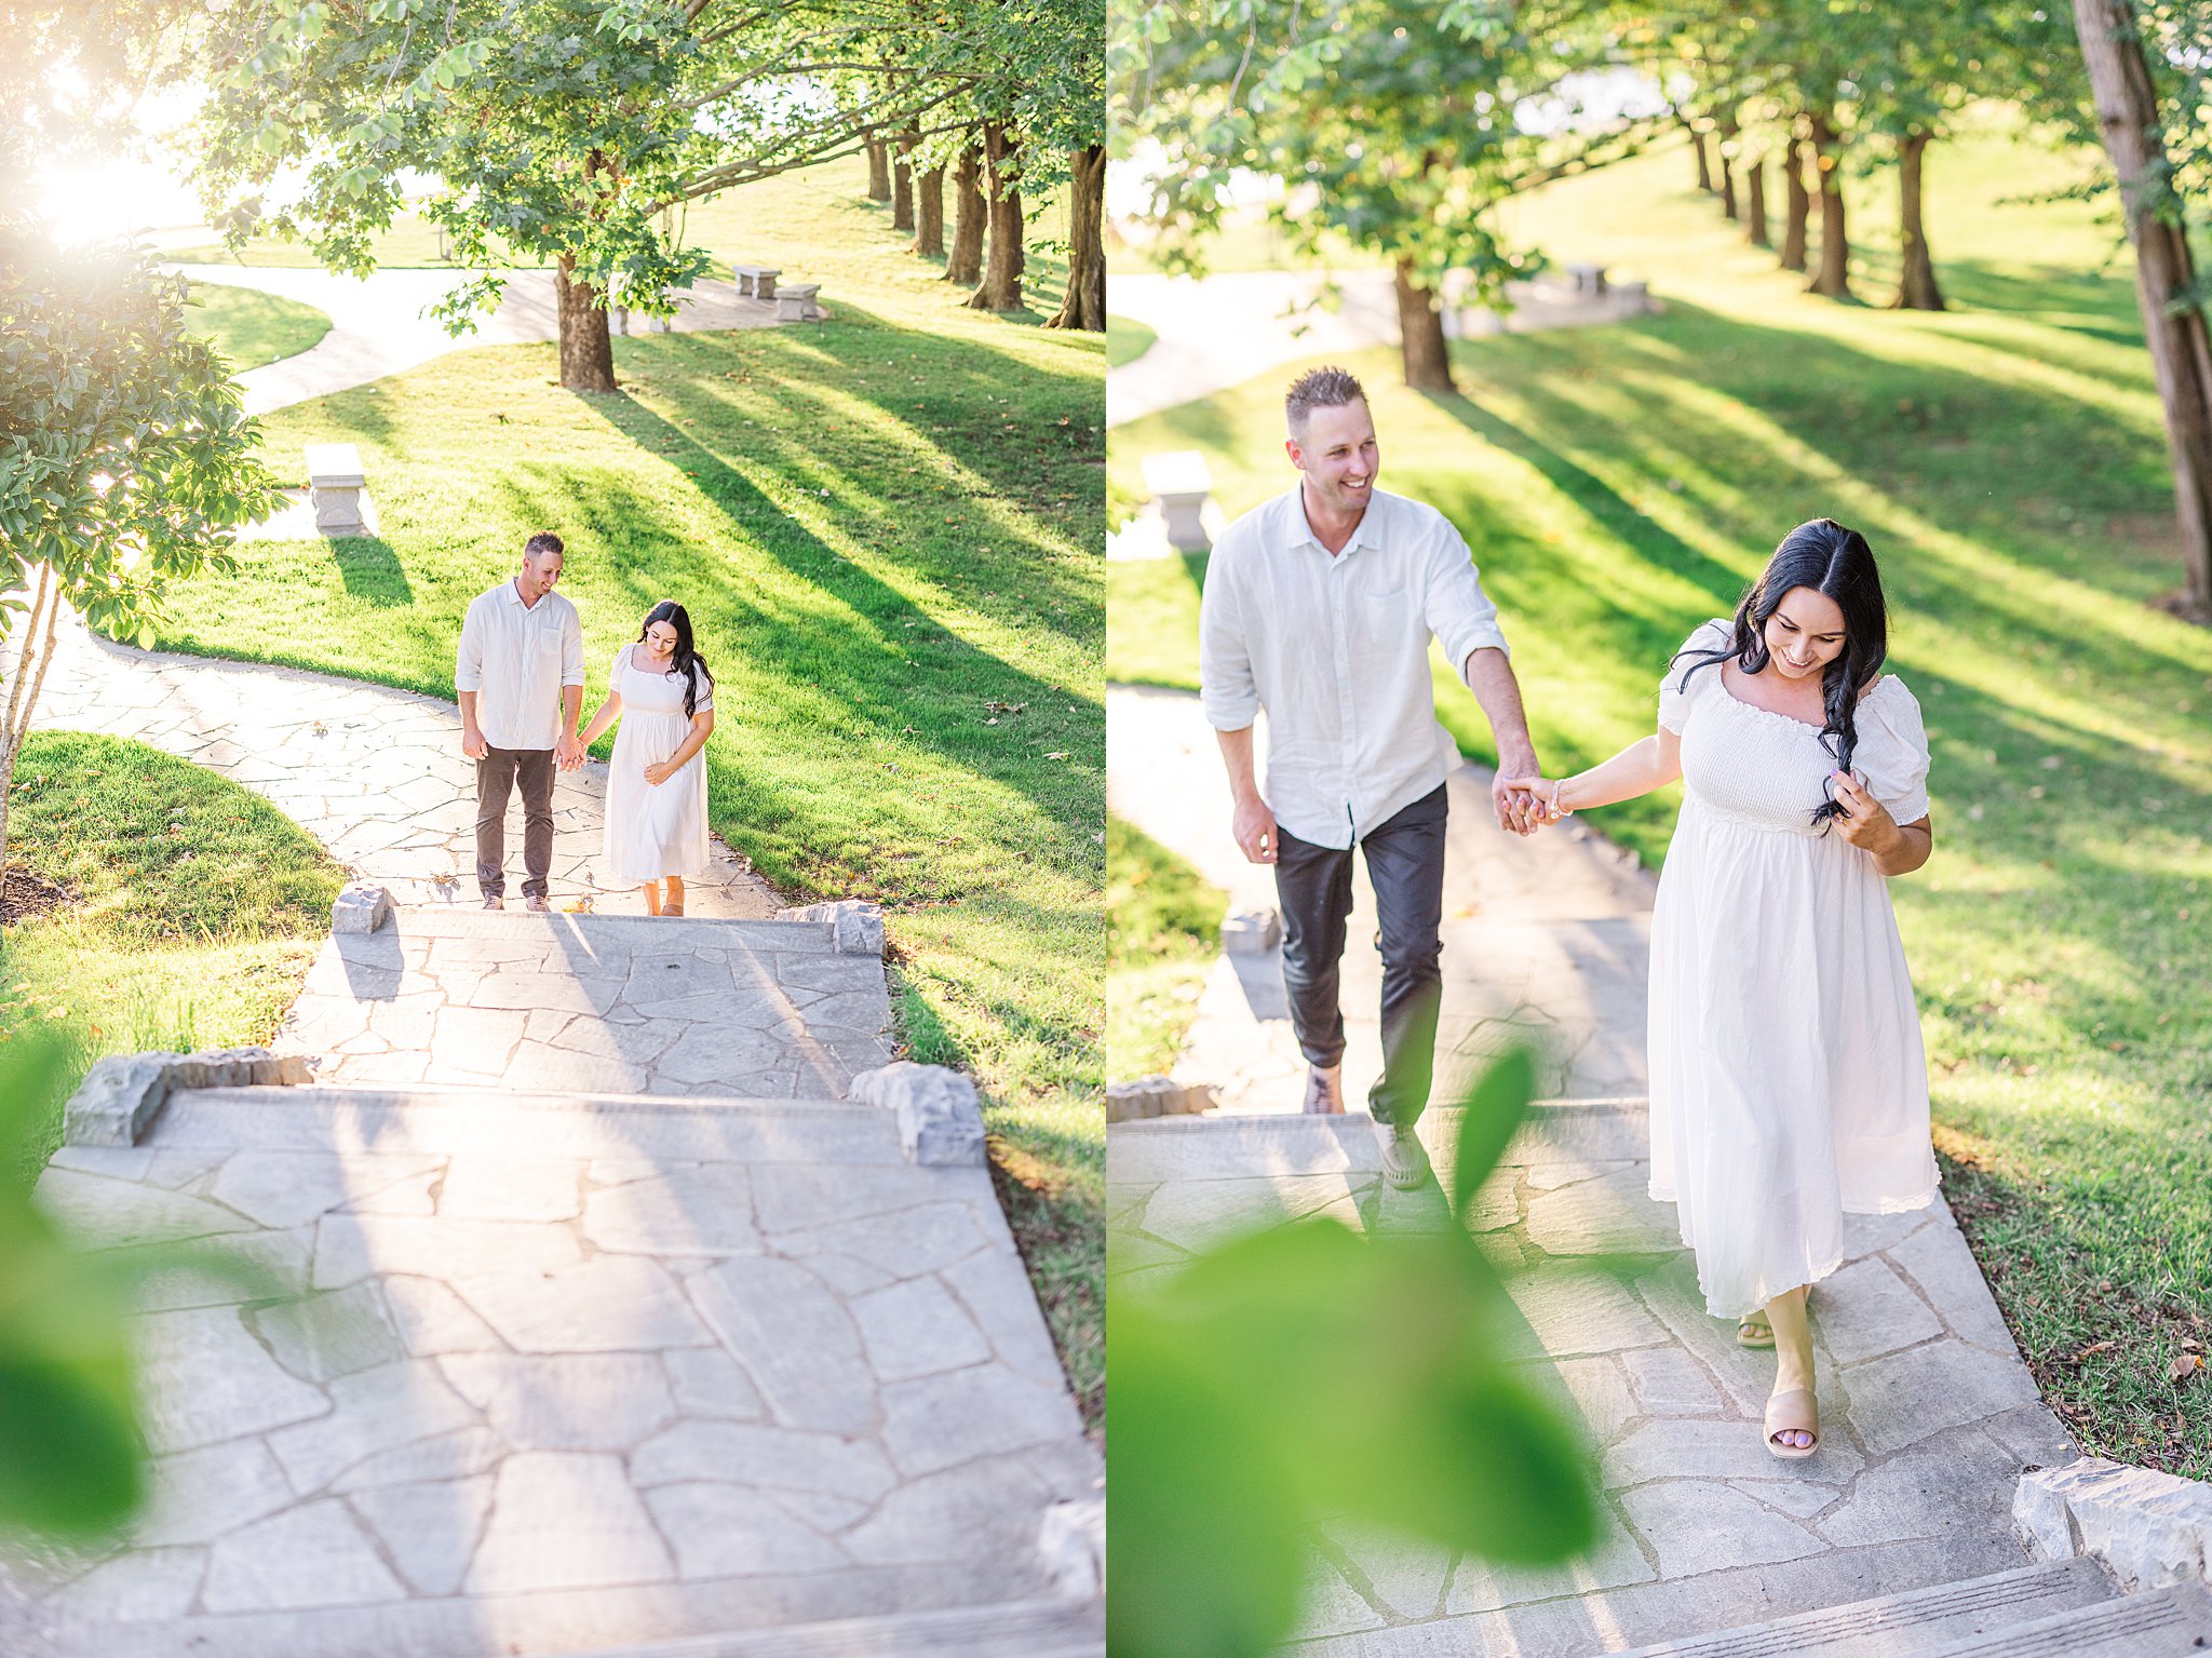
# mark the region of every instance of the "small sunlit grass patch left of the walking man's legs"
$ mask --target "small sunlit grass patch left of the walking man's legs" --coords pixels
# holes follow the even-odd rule
[[[1121,818],[1106,818],[1106,1074],[1175,1063],[1221,953],[1228,893]]]

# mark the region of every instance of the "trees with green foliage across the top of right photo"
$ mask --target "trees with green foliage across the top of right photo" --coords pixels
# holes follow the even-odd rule
[[[1896,305],[1913,309],[1944,305],[1922,179],[1962,108],[2004,99],[2101,144],[2166,402],[2185,606],[2212,617],[2212,290],[2188,232],[2212,192],[2208,40],[2212,0],[1115,0],[1108,86],[1117,135],[1161,157],[1146,217],[1166,265],[1203,265],[1239,170],[1272,177],[1294,250],[1389,261],[1405,378],[1427,391],[1453,385],[1447,276],[1458,303],[1502,303],[1537,263],[1495,208],[1681,126],[1761,245],[1781,186],[1781,263],[1834,298],[1851,294],[1843,179],[1893,164]],[[1601,117],[1621,71],[1659,95]]]

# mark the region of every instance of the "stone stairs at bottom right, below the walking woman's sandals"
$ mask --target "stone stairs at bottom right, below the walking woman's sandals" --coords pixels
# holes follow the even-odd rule
[[[2197,1658],[2208,1649],[2203,1587],[2124,1596],[2095,1561],[2073,1559],[1661,1640],[1628,1658]]]

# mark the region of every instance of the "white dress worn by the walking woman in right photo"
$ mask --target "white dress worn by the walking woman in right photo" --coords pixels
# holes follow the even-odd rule
[[[1723,648],[1710,621],[1686,648]],[[1818,730],[1736,699],[1721,665],[1659,690],[1686,798],[1652,911],[1650,1194],[1674,1203],[1705,1307],[1741,1318],[1843,1265],[1843,1216],[1936,1196],[1927,1057],[1889,886],[1820,805]],[[1851,769],[1927,816],[1920,703],[1860,699]]]

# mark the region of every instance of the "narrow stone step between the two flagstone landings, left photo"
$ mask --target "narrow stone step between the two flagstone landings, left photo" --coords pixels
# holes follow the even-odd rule
[[[568,1094],[504,1088],[192,1088],[170,1094],[150,1150],[513,1152],[672,1163],[905,1163],[894,1112],[823,1099]],[[66,1147],[64,1167],[97,1147]],[[117,1154],[102,1154],[115,1163]]]

